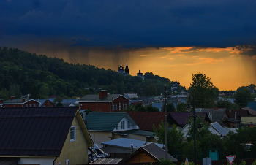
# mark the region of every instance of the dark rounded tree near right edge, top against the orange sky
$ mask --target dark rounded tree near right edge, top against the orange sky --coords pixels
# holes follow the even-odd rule
[[[240,108],[247,107],[247,103],[254,101],[252,94],[249,92],[249,88],[242,86],[236,90],[234,95],[235,103],[239,105]]]

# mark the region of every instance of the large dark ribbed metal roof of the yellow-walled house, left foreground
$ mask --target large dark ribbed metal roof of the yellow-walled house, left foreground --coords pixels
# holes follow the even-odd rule
[[[0,156],[59,156],[77,107],[0,109]]]

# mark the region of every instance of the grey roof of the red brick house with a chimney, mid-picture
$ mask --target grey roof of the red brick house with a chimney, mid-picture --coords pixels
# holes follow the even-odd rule
[[[113,100],[115,100],[116,98],[118,98],[119,96],[124,97],[121,94],[108,94],[108,96],[105,96],[102,99],[99,99],[99,95],[95,94],[95,95],[86,95],[83,96],[82,98],[80,98],[79,100],[77,100],[77,102],[111,102]],[[125,99],[127,99],[126,97],[124,97]],[[127,99],[129,100],[129,99]]]

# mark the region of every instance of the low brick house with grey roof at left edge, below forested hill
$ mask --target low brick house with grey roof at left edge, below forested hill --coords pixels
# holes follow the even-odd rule
[[[39,107],[40,102],[34,99],[15,99],[15,96],[11,96],[9,100],[0,104],[2,107]]]

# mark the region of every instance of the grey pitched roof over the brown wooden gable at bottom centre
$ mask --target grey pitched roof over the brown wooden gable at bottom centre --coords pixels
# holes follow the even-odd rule
[[[127,158],[124,158],[120,163],[125,163],[127,160],[129,160],[129,158],[132,158],[132,156],[135,156],[141,150],[143,150],[144,152],[148,153],[148,156],[151,156],[156,161],[159,158],[165,158],[165,150],[162,150],[162,148],[157,146],[154,142],[151,142],[151,143],[149,143],[147,145],[143,145],[142,147],[140,147],[138,150],[136,150],[134,153],[129,155]],[[167,158],[172,160],[172,161],[177,161],[177,159],[173,158],[173,156],[170,156],[170,154],[167,154]]]

